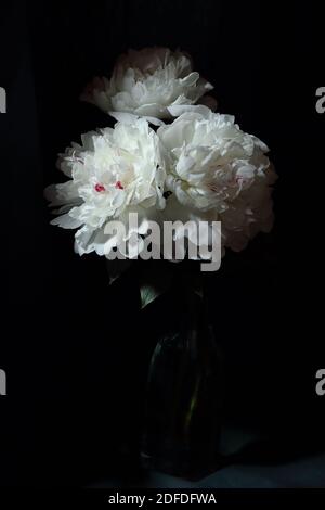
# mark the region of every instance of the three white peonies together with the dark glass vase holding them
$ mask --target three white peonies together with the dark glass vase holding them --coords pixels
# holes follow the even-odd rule
[[[212,89],[186,53],[152,48],[130,50],[110,77],[95,78],[82,93],[116,123],[60,155],[68,179],[46,195],[52,224],[75,230],[79,255],[106,257],[110,281],[139,257],[205,260],[202,270],[216,270],[226,248],[239,252],[272,228],[269,149],[232,115],[216,113]],[[219,466],[223,401],[222,356],[196,268],[135,268],[142,307],[172,289],[166,320],[162,299],[157,319],[146,321],[157,322],[151,336],[160,339],[148,370],[141,456],[146,467],[186,476]]]

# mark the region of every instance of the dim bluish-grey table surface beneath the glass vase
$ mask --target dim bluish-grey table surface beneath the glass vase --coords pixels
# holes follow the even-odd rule
[[[257,443],[256,433],[243,432],[243,430],[229,430],[223,434],[222,452],[227,455],[229,464],[198,481],[186,481],[157,471],[145,473],[138,482],[125,482],[122,487],[141,488],[295,488],[295,487],[325,487],[325,452],[284,456],[280,461],[265,460],[260,455],[260,446],[245,457],[236,454]],[[261,445],[262,443],[262,437]],[[271,447],[272,449],[272,447]],[[272,460],[272,461],[271,461]],[[121,488],[120,480],[103,477],[90,487]]]

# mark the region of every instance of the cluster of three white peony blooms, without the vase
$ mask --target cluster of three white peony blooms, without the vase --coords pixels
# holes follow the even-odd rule
[[[173,240],[209,245],[211,237],[199,241],[184,225],[219,221],[222,254],[270,231],[276,175],[269,149],[233,116],[214,112],[206,95],[212,89],[186,53],[166,48],[130,50],[109,78],[86,88],[81,99],[117,122],[66,149],[58,168],[68,180],[46,190],[57,215],[52,224],[76,230],[79,255],[113,260],[118,252],[131,260],[147,251],[147,239],[161,252],[153,222],[173,222]]]

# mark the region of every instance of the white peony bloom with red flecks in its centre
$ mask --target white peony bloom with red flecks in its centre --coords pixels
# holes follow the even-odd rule
[[[60,216],[52,224],[78,229],[75,248],[80,255],[96,252],[108,256],[134,234],[128,228],[130,213],[138,214],[138,233],[145,234],[147,220],[164,208],[159,140],[144,118],[88,132],[81,140],[81,145],[74,143],[58,160],[69,180],[46,190],[50,205],[58,207],[55,213]],[[105,232],[112,220],[125,222],[126,239]]]

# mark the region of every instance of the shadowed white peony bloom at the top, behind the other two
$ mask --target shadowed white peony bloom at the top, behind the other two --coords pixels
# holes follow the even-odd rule
[[[129,50],[121,55],[110,79],[95,78],[81,99],[106,113],[170,118],[174,105],[195,104],[213,87],[193,71],[190,58],[167,48]],[[205,98],[212,105],[211,98]]]

